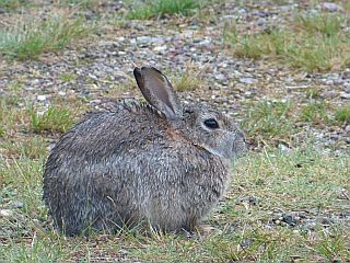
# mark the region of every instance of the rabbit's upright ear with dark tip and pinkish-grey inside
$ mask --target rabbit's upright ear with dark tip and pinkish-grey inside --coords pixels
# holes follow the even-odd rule
[[[182,105],[167,78],[151,67],[135,68],[133,76],[144,99],[167,118],[183,115]]]

